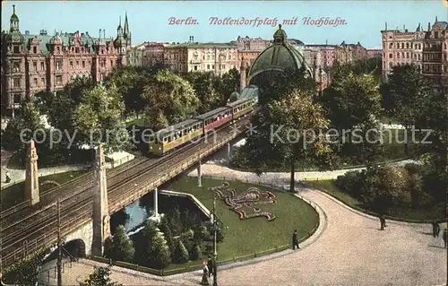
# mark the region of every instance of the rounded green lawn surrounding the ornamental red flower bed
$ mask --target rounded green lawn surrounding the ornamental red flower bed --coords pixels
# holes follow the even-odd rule
[[[228,182],[230,187],[236,188],[237,194],[246,191],[250,186],[255,186],[241,182]],[[211,210],[213,198],[207,188],[220,186],[220,183],[221,181],[217,179],[202,178],[202,187],[198,187],[197,178],[184,176],[164,188],[192,194]],[[265,186],[256,187],[261,190],[268,189]],[[218,245],[218,260],[253,255],[255,252],[289,245],[293,230],[297,229],[298,237],[304,238],[314,229],[319,217],[313,207],[289,193],[269,190],[276,195],[277,203],[262,205],[261,209],[262,212],[273,212],[276,216],[273,221],[267,221],[264,217],[240,220],[237,212],[230,211],[223,201],[216,201],[217,214],[228,227],[228,230],[224,230],[223,242]],[[200,261],[190,262],[188,265],[197,265]],[[185,267],[185,265],[172,264],[168,269]]]

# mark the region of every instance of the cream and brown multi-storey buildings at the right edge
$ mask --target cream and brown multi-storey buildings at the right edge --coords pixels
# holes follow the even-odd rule
[[[435,86],[448,91],[448,22],[428,23],[415,31],[387,29],[382,33],[383,79],[395,65],[417,65],[423,75]]]

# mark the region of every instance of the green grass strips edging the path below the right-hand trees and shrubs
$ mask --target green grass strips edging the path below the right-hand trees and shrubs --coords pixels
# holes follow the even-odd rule
[[[329,195],[336,197],[342,203],[348,204],[351,207],[358,207],[362,210],[366,209],[364,205],[356,198],[340,191],[340,189],[334,185],[332,180],[307,181],[305,183],[308,186],[313,186],[325,193],[328,193]],[[443,220],[444,213],[445,204],[440,204],[430,209],[404,209],[397,207],[390,210],[387,215],[406,220]]]

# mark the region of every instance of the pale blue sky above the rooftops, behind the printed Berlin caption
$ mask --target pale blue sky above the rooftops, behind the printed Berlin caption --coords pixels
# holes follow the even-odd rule
[[[416,30],[418,22],[424,29],[427,23],[448,21],[447,0],[377,0],[377,1],[2,1],[2,30],[9,30],[9,19],[13,4],[20,20],[20,30],[38,34],[47,30],[74,32],[89,31],[98,36],[99,29],[106,30],[106,37],[116,37],[120,15],[122,24],[127,12],[133,45],[143,41],[185,42],[189,36],[200,42],[228,42],[237,36],[272,39],[272,27],[284,20],[296,24],[283,25],[289,38],[300,39],[306,44],[357,43],[366,48],[381,48],[381,30],[387,22],[388,28]],[[169,24],[170,17],[195,19],[196,24]],[[255,20],[259,25],[212,24],[211,17],[224,19]],[[304,19],[343,19],[345,24],[304,24]],[[265,22],[266,18],[270,22]],[[292,23],[292,22],[291,22]]]

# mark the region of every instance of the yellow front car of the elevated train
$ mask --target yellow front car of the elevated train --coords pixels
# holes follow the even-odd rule
[[[203,134],[202,121],[188,119],[174,126],[159,130],[150,138],[150,152],[164,155],[184,143]]]

